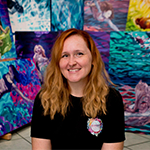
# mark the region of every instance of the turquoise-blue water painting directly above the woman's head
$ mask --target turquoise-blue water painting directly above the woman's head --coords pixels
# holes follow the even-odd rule
[[[84,0],[51,0],[51,31],[83,29]]]

